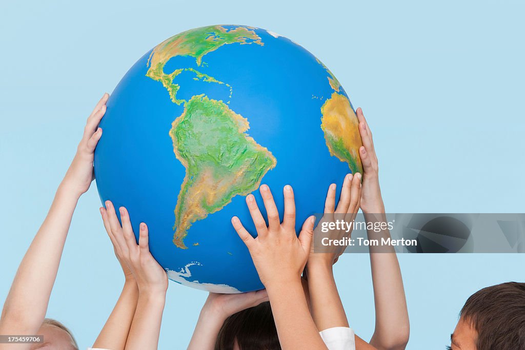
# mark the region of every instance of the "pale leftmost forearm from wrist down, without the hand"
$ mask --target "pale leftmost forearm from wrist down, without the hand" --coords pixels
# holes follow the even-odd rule
[[[0,334],[34,334],[44,321],[79,194],[60,184],[46,219],[29,246],[9,290]]]

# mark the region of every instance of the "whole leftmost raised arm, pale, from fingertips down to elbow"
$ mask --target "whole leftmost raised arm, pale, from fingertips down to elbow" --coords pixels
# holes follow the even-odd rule
[[[102,135],[98,124],[108,97],[104,94],[89,116],[75,158],[18,267],[0,317],[0,334],[36,334],[44,321],[73,212],[93,180],[93,152]]]

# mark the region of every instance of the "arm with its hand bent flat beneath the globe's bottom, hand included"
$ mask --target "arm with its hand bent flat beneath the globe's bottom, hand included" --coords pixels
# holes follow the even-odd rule
[[[240,294],[209,293],[188,350],[214,350],[220,328],[229,316],[265,301],[268,301],[268,294],[264,289]]]

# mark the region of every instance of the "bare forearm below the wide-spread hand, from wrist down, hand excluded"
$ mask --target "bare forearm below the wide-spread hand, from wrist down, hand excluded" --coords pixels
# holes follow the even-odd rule
[[[299,277],[266,289],[283,350],[327,348],[308,310]]]

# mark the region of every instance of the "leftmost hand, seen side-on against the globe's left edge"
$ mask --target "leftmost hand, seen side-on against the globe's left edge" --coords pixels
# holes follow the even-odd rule
[[[95,155],[95,147],[97,147],[97,143],[102,136],[102,129],[98,128],[98,124],[104,113],[106,113],[108,98],[109,94],[104,93],[104,96],[102,96],[93,112],[89,115],[75,158],[73,158],[62,182],[77,195],[85,193],[93,181],[93,157]]]

